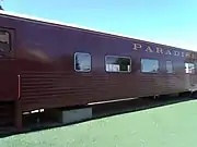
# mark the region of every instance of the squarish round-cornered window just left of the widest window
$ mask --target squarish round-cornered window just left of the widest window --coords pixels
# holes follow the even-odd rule
[[[84,52],[74,53],[74,70],[77,72],[91,71],[91,54]]]

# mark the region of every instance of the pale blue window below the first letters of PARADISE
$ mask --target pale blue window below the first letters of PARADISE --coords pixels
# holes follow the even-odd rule
[[[144,73],[158,73],[159,61],[153,59],[141,59],[141,72]]]

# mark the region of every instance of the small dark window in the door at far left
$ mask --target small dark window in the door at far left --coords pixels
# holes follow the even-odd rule
[[[10,51],[10,34],[0,29],[0,52]]]

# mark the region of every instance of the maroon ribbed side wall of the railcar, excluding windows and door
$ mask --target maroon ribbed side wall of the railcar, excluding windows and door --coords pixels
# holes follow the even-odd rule
[[[185,74],[184,69],[196,58],[183,49],[22,19],[0,21],[15,28],[13,69],[21,76],[23,111],[179,93],[197,84],[196,74]],[[74,71],[76,52],[91,56],[90,72]],[[107,72],[106,56],[130,58],[131,71]],[[141,72],[142,59],[158,60],[158,73]],[[166,61],[173,62],[171,74]]]

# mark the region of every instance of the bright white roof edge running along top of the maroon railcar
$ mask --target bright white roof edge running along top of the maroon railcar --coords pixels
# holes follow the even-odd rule
[[[142,39],[142,38],[140,39],[138,37],[131,37],[129,35],[123,35],[123,34],[117,34],[117,33],[112,33],[112,32],[99,30],[99,29],[94,29],[94,28],[90,28],[90,27],[79,26],[76,24],[63,23],[63,22],[56,21],[56,20],[48,20],[48,19],[37,17],[37,16],[31,16],[27,14],[20,14],[20,13],[15,13],[15,12],[0,10],[0,15],[2,15],[4,17],[12,17],[15,20],[23,20],[23,21],[32,22],[32,23],[46,24],[46,25],[57,26],[57,27],[68,27],[68,28],[80,29],[80,30],[84,30],[84,32],[99,34],[99,35],[112,36],[112,37],[116,37],[116,38],[125,38],[125,39],[129,39],[129,40],[142,41],[142,42],[147,42],[147,44],[153,44],[153,45],[158,45],[158,46],[165,46],[169,48],[176,48],[176,49],[181,49],[181,50],[187,50],[187,51],[196,52],[196,51],[190,50],[190,49],[184,49],[184,48],[179,48],[179,47],[174,47],[174,46],[170,46],[170,45],[154,42],[154,41],[151,41],[148,39]]]

